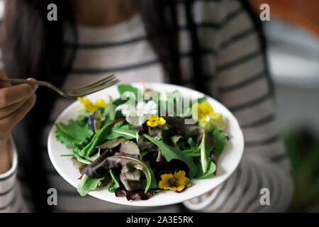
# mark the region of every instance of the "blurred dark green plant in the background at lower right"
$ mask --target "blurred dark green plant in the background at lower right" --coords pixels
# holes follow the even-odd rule
[[[285,135],[294,182],[288,212],[319,212],[319,140],[306,130]]]

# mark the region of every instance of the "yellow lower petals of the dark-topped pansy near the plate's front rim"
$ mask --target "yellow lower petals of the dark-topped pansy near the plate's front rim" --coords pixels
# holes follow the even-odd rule
[[[189,183],[189,178],[185,176],[186,172],[179,170],[178,172],[165,173],[161,175],[161,180],[158,183],[160,189],[171,189],[174,192],[181,192]]]

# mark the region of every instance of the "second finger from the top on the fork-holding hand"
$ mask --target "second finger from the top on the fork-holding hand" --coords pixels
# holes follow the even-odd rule
[[[0,134],[5,134],[6,132],[9,133],[11,129],[33,108],[35,100],[36,95],[33,94],[19,109],[6,118],[0,119]]]

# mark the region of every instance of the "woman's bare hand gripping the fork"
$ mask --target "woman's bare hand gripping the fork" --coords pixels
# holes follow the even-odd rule
[[[1,70],[0,78],[7,78]],[[0,83],[0,174],[10,169],[8,143],[11,130],[34,106],[37,89],[38,85]]]

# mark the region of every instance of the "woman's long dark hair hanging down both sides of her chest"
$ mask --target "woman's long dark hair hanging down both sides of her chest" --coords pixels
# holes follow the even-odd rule
[[[191,16],[194,0],[184,0],[186,26],[191,34],[193,84],[205,92],[201,77],[200,48],[196,25]],[[47,6],[57,4],[58,20],[47,21]],[[77,29],[70,0],[5,0],[4,21],[1,25],[2,60],[9,77],[35,77],[62,86],[72,67],[77,51]],[[181,84],[177,4],[173,0],[139,0],[138,7],[148,38],[167,75],[167,81]],[[66,55],[63,43],[64,23],[73,28],[74,45]],[[21,179],[31,189],[35,211],[47,211],[47,182],[40,151],[43,123],[47,122],[56,94],[50,89],[38,89],[38,100],[20,123],[15,138],[18,146]]]

